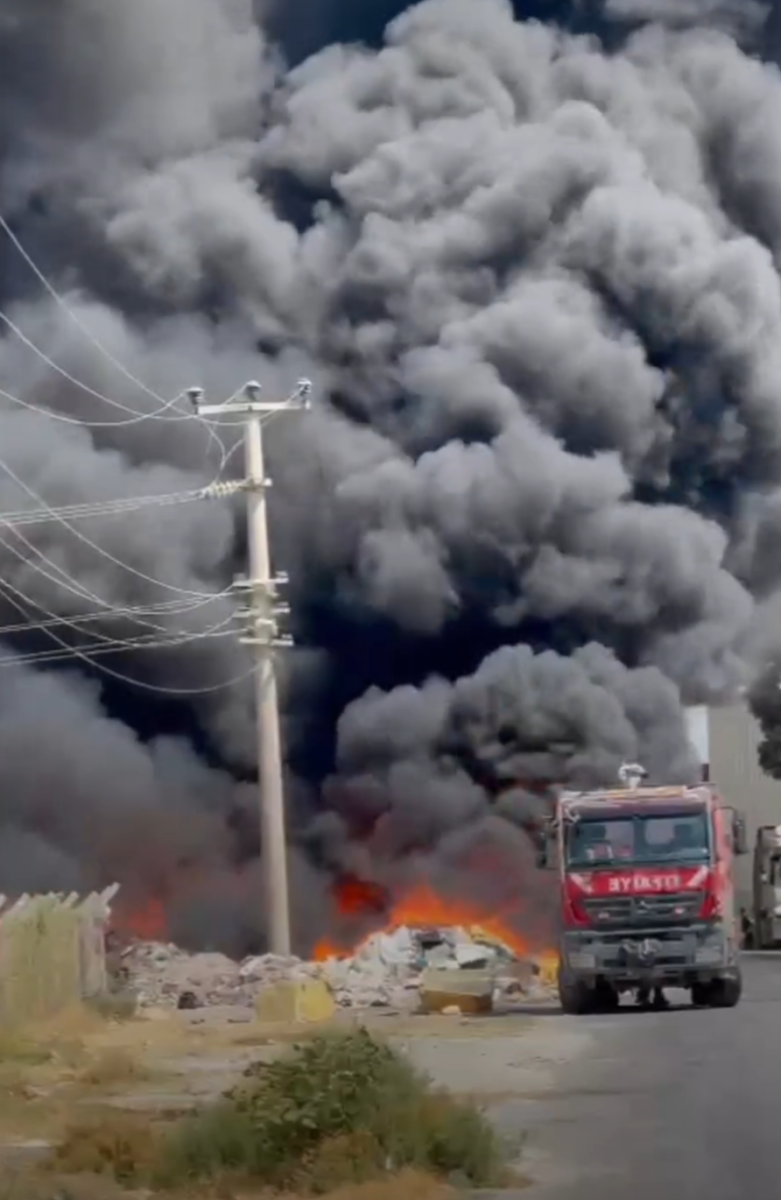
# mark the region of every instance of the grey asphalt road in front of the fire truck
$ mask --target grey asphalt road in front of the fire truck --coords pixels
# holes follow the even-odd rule
[[[732,1010],[679,994],[669,1012],[547,1018],[589,1044],[495,1110],[528,1130],[525,1200],[781,1194],[781,955],[746,955],[744,979]]]

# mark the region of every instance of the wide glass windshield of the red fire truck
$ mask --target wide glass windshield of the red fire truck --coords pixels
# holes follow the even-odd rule
[[[703,812],[663,816],[582,817],[566,833],[567,866],[599,863],[707,863],[708,817]]]

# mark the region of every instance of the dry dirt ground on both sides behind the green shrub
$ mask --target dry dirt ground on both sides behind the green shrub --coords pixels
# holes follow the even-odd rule
[[[344,1014],[335,1026],[355,1024]],[[437,1084],[477,1099],[513,1138],[523,1134],[513,1128],[515,1102],[545,1093],[557,1066],[583,1050],[582,1038],[551,1014],[404,1019],[378,1013],[364,1014],[361,1024],[386,1036]],[[79,1010],[2,1034],[0,1171],[26,1172],[74,1122],[108,1109],[148,1114],[150,1121],[192,1111],[216,1099],[252,1062],[269,1061],[308,1032],[262,1026],[234,1012],[149,1013],[112,1022]],[[14,1189],[6,1193],[17,1200]],[[446,1194],[429,1181],[404,1190],[405,1200]],[[24,1195],[28,1200],[30,1193]],[[376,1189],[365,1200],[395,1195]]]

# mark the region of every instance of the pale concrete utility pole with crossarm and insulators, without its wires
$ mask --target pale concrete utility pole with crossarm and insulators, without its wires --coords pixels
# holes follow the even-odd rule
[[[247,540],[250,574],[238,578],[234,588],[244,593],[247,607],[240,614],[247,618],[241,641],[251,646],[258,658],[256,672],[256,718],[258,722],[258,799],[260,805],[260,838],[263,872],[266,889],[270,949],[274,954],[290,954],[290,898],[288,892],[287,836],[284,827],[284,781],[282,773],[282,743],[274,648],[290,646],[292,638],[280,636],[277,616],[289,612],[277,601],[278,587],[288,582],[284,575],[271,575],[269,523],[266,510],[266,479],[263,458],[263,419],[276,413],[310,407],[312,384],[301,379],[287,400],[264,401],[259,383],[248,383],[240,400],[236,396],[223,404],[204,404],[203,391],[191,389],[190,398],[200,416],[239,414],[245,421],[245,462],[247,492]]]

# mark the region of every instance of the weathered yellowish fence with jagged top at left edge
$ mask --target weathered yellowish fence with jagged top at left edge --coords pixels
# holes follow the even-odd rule
[[[118,892],[0,896],[1,1025],[53,1016],[107,991],[106,929]]]

